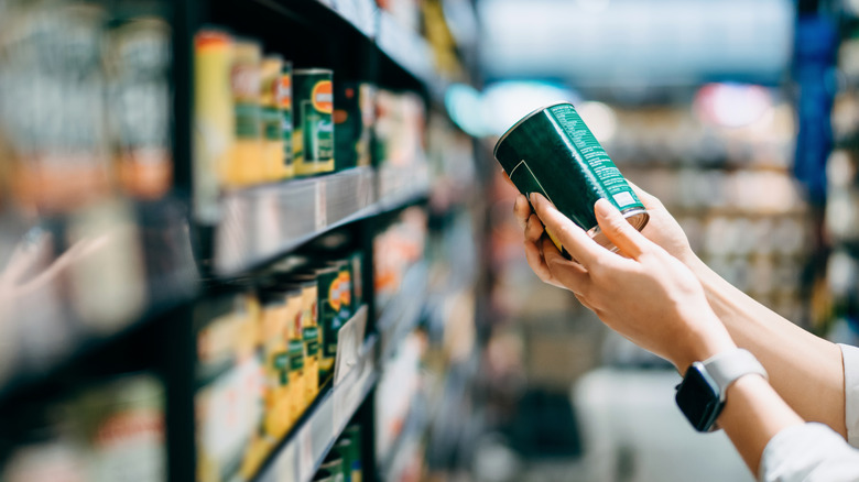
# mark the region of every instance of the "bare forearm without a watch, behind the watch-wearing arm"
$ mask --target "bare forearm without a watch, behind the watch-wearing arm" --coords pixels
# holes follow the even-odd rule
[[[766,368],[779,395],[804,419],[826,424],[846,437],[840,349],[755,302],[702,261],[687,265],[733,341]]]

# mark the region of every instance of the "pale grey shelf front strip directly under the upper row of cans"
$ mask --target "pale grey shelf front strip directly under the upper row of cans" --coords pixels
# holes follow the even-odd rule
[[[370,216],[373,200],[369,167],[229,193],[215,234],[215,272],[236,275]]]

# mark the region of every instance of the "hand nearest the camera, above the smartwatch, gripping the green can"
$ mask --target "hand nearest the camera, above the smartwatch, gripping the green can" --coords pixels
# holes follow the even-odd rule
[[[526,237],[533,237],[533,224],[542,220],[576,260],[564,259],[544,237],[525,244],[532,269],[575,293],[609,328],[681,372],[693,361],[736,347],[692,271],[632,228],[610,202],[600,199],[595,210],[619,253],[597,244],[545,197],[532,195],[531,202],[539,219],[528,219]]]

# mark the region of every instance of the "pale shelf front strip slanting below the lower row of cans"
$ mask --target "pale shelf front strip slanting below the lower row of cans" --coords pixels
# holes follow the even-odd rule
[[[378,379],[373,361],[377,338],[368,338],[360,361],[316,404],[287,437],[254,482],[311,481],[346,425]]]

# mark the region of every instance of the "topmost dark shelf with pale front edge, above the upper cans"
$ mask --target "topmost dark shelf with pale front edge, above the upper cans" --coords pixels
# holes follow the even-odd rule
[[[374,0],[209,0],[213,15],[208,22],[224,24],[237,32],[251,32],[267,47],[289,53],[295,65],[337,66],[336,76],[361,78],[393,89],[422,90],[444,108],[448,81],[437,72],[435,54],[418,33],[399,24]],[[271,17],[260,22],[260,17]],[[300,26],[284,32],[273,19]],[[309,26],[309,28],[308,28]],[[319,35],[325,32],[325,35]],[[339,63],[322,43],[337,36]],[[311,41],[315,37],[316,41]],[[294,48],[301,42],[306,45]],[[352,62],[351,59],[372,62]],[[376,59],[381,62],[376,62]],[[368,68],[368,65],[372,67]]]

